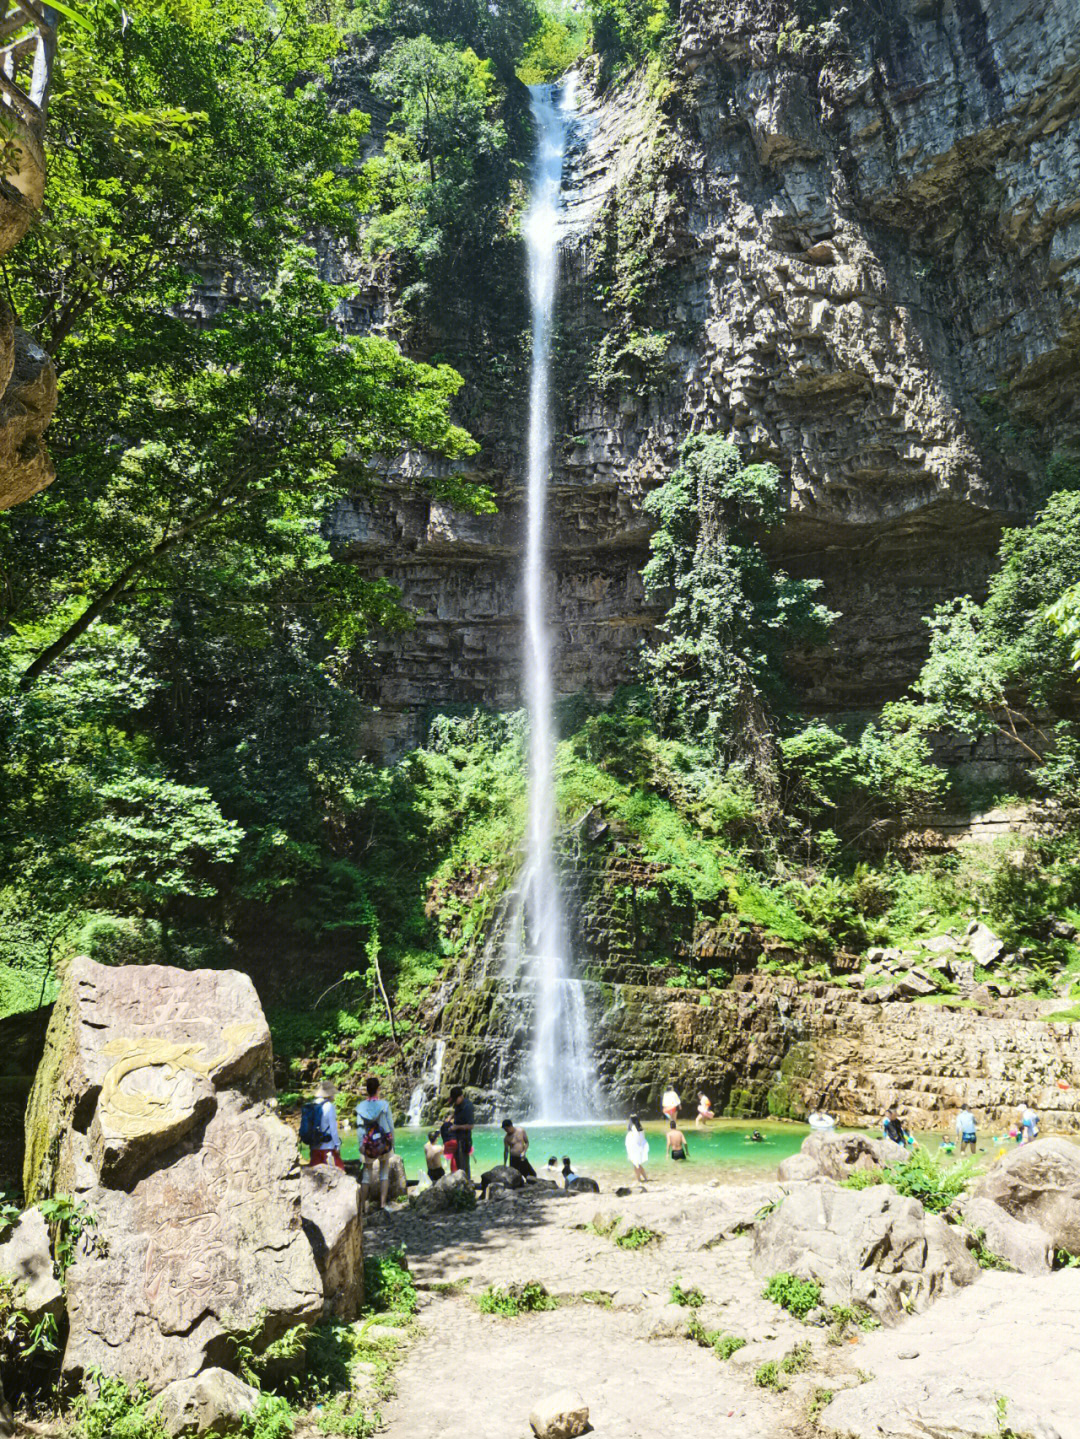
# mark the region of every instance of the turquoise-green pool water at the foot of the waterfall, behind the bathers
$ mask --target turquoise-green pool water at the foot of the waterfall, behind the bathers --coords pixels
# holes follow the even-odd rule
[[[526,1125],[529,1134],[529,1160],[539,1171],[555,1154],[569,1154],[574,1170],[594,1179],[623,1179],[631,1176],[626,1157],[626,1124],[575,1124],[575,1125]],[[664,1179],[683,1181],[703,1179],[771,1179],[777,1166],[788,1154],[795,1154],[802,1140],[810,1134],[805,1124],[778,1124],[759,1120],[748,1124],[742,1120],[716,1120],[708,1128],[696,1130],[693,1121],[683,1125],[687,1140],[689,1160],[685,1164],[669,1160],[664,1151],[663,1121],[646,1122],[649,1138],[647,1171],[663,1173]],[[758,1130],[764,1144],[751,1144],[748,1135]],[[404,1160],[406,1173],[416,1179],[424,1168],[426,1130],[397,1130],[395,1148]],[[357,1158],[357,1135],[342,1135],[341,1153],[347,1160]],[[502,1130],[495,1125],[477,1125],[473,1130],[475,1176],[493,1164],[502,1164]]]

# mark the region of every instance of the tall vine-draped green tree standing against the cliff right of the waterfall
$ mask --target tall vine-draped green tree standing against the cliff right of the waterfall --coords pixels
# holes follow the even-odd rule
[[[831,613],[817,580],[774,570],[751,527],[781,517],[779,473],[743,465],[718,435],[683,442],[680,465],[646,499],[656,517],[646,591],[666,597],[660,640],[644,653],[663,731],[769,768],[765,709],[785,649],[824,639]]]

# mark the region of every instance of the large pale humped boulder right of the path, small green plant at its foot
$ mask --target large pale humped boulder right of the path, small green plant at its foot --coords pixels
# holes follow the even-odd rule
[[[795,1186],[755,1226],[752,1265],[764,1279],[813,1279],[823,1304],[863,1305],[886,1324],[981,1274],[962,1236],[916,1199],[825,1180]]]

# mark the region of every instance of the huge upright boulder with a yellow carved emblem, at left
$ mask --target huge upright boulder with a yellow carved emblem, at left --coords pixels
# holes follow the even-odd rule
[[[322,1314],[270,1036],[229,970],[70,963],[27,1111],[29,1197],[96,1217],[68,1271],[65,1374],[157,1393]]]

